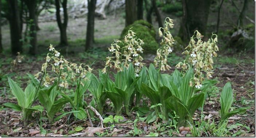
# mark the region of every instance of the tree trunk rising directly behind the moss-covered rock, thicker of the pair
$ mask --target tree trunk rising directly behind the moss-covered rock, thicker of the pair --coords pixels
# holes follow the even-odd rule
[[[125,26],[133,24],[137,20],[136,2],[137,0],[125,0]]]

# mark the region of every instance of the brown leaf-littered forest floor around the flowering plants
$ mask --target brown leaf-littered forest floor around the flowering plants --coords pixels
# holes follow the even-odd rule
[[[76,63],[87,63],[91,64],[95,58],[107,55],[106,50],[94,49],[90,52],[79,54],[79,56],[69,55],[68,61]],[[180,60],[175,58],[179,54],[173,54],[174,56],[170,58],[169,62],[172,65],[170,71],[166,73],[171,74],[175,69],[175,64]],[[176,56],[175,56],[176,55]],[[148,67],[152,63],[152,56],[145,58],[146,66]],[[20,112],[13,111],[11,109],[5,108],[2,103],[12,102],[17,103],[15,97],[11,94],[11,91],[8,86],[7,76],[15,80],[19,86],[25,88],[29,78],[27,73],[36,74],[40,71],[42,63],[44,62],[43,56],[29,57],[24,56],[22,63],[13,66],[11,61],[13,57],[1,57],[1,72],[0,72],[0,135],[1,136],[75,136],[75,134],[86,136],[87,133],[92,133],[92,131],[97,131],[98,133],[92,133],[95,136],[105,135],[105,136],[133,136],[134,134],[134,119],[136,117],[135,112],[131,112],[131,117],[123,116],[125,122],[122,124],[115,124],[114,127],[105,126],[104,129],[97,127],[99,120],[97,116],[92,120],[94,127],[90,127],[88,119],[82,121],[67,121],[67,117],[64,116],[59,121],[54,122],[53,124],[48,124],[47,118],[43,117],[43,130],[44,132],[40,134],[40,125],[39,121],[34,119],[38,118],[38,114],[34,114],[34,118],[31,118],[29,122],[22,121],[22,116]],[[235,115],[229,118],[228,121],[228,133],[227,135],[240,135],[240,136],[254,136],[255,135],[255,60],[254,54],[220,54],[216,59],[214,59],[214,75],[213,79],[219,81],[217,86],[210,88],[208,92],[208,98],[205,101],[205,106],[203,110],[203,117],[205,120],[209,120],[209,123],[212,121],[218,121],[220,119],[220,92],[226,82],[230,81],[232,84],[234,92],[234,101],[232,107],[250,107],[245,113]],[[98,69],[104,67],[103,61],[97,61],[92,66],[94,68],[94,73],[98,74]],[[89,92],[86,92],[86,100],[90,102],[92,95]],[[147,100],[145,100],[147,102]],[[110,103],[110,100],[107,100],[106,103]],[[68,105],[63,109],[67,110]],[[43,113],[44,114],[44,113]],[[62,113],[56,115],[59,116]],[[113,115],[114,112],[109,109],[106,112],[107,115]],[[107,115],[105,117],[107,117]],[[104,117],[103,117],[104,118]],[[128,121],[128,122],[127,122]],[[194,121],[201,121],[201,112],[198,110],[194,114]],[[82,129],[77,132],[76,128],[81,127]],[[164,123],[153,122],[147,124],[145,122],[138,122],[137,128],[139,129],[138,136],[145,136],[150,132],[158,133],[159,136],[183,136],[190,134],[178,134],[176,131],[170,130],[164,125]],[[202,136],[211,136],[211,132],[201,132]],[[92,135],[87,135],[92,136]]]

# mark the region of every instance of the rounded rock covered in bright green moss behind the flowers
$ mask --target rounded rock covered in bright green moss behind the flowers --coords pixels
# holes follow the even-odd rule
[[[125,27],[121,33],[120,40],[123,40],[125,35],[127,35],[128,30],[132,27],[133,32],[136,33],[137,38],[140,38],[145,43],[143,45],[145,54],[155,54],[159,47],[159,44],[155,40],[155,30],[154,27],[145,20],[135,21],[133,24]]]

